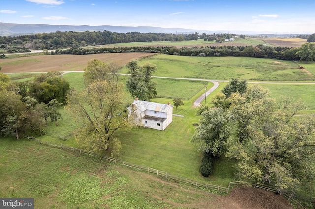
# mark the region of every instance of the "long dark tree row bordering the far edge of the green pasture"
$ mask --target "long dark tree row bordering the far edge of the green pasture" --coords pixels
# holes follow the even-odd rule
[[[114,47],[114,48],[71,48],[56,50],[52,54],[96,54],[96,53],[129,53],[148,52],[163,53],[179,56],[241,56],[255,58],[269,58],[290,61],[313,61],[315,60],[315,42],[305,43],[301,47],[271,47],[259,44],[257,46],[205,46],[205,47],[169,47],[169,46],[147,46],[147,47]]]

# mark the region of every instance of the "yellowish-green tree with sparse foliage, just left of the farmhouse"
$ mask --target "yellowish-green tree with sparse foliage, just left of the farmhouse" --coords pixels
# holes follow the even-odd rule
[[[122,83],[96,80],[83,92],[72,91],[66,108],[75,117],[88,121],[76,135],[83,148],[99,154],[107,149],[111,155],[119,153],[121,143],[114,133],[128,126]]]

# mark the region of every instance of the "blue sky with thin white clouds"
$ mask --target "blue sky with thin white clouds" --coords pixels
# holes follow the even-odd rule
[[[315,0],[0,0],[0,22],[314,33]]]

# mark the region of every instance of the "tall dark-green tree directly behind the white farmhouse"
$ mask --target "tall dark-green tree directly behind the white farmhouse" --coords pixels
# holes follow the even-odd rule
[[[157,95],[156,83],[152,81],[152,73],[157,67],[150,63],[139,66],[138,61],[133,60],[127,64],[129,77],[126,82],[128,91],[132,97],[139,100],[150,101]]]

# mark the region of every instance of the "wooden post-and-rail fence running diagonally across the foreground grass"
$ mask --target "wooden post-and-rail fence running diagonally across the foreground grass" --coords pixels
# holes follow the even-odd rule
[[[29,137],[29,136],[25,136],[25,137],[28,138],[28,139],[35,140],[35,141],[37,141],[40,144],[46,144],[46,145],[50,145],[50,146],[53,146],[53,147],[58,147],[58,148],[61,148],[61,149],[66,149],[66,150],[70,150],[70,151],[73,151],[73,152],[77,152],[77,153],[80,153],[80,154],[87,154],[87,155],[90,155],[90,156],[98,157],[98,158],[100,158],[102,160],[107,160],[109,162],[113,162],[113,163],[116,163],[116,164],[121,164],[121,165],[129,167],[129,168],[135,168],[135,169],[138,169],[140,171],[145,171],[145,172],[148,172],[148,173],[157,174],[158,176],[165,177],[166,179],[173,179],[173,180],[175,180],[177,182],[188,183],[188,184],[191,184],[191,185],[194,185],[194,186],[197,186],[197,187],[202,187],[202,188],[206,188],[206,189],[210,189],[210,190],[215,190],[215,191],[226,193],[226,194],[228,194],[228,192],[229,192],[229,190],[230,190],[232,185],[241,184],[240,181],[235,181],[235,182],[230,182],[228,187],[223,187],[223,186],[218,186],[218,185],[213,185],[213,184],[208,184],[208,183],[202,183],[202,182],[198,182],[196,180],[190,180],[190,179],[187,179],[187,178],[182,177],[182,176],[178,176],[178,175],[175,175],[175,174],[172,174],[172,173],[168,173],[166,171],[161,171],[161,170],[150,168],[150,167],[147,167],[147,166],[137,165],[137,164],[134,164],[134,163],[131,163],[131,162],[126,162],[126,161],[121,160],[121,159],[116,159],[116,158],[108,157],[108,156],[99,156],[99,155],[97,155],[97,154],[95,154],[93,152],[89,152],[89,151],[85,151],[85,150],[82,150],[82,149],[70,147],[68,145],[59,144],[59,143],[53,143],[53,142],[48,142],[48,141],[42,142],[41,140],[39,140],[39,139],[37,139],[35,137]],[[252,186],[254,188],[260,188],[260,189],[264,189],[264,190],[267,190],[267,191],[272,191],[272,192],[275,192],[275,193],[279,193],[278,188],[276,188],[274,186],[258,185],[258,184],[252,184]],[[283,195],[288,201],[291,201],[293,204],[295,204],[297,206],[297,209],[306,209],[304,206],[301,205],[301,201],[299,201],[298,199],[296,199],[294,197],[295,192],[291,192],[290,193],[290,192],[283,192],[282,191],[279,194]]]

